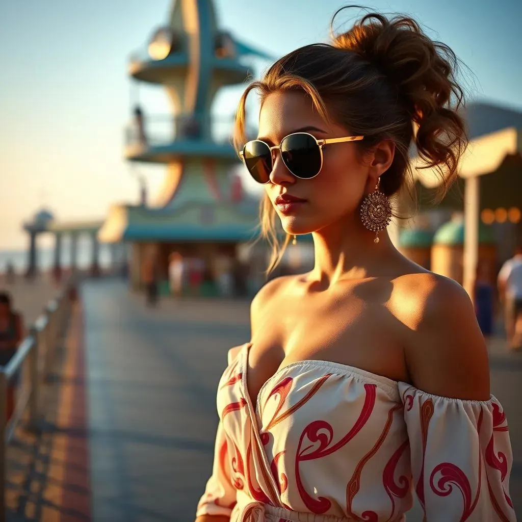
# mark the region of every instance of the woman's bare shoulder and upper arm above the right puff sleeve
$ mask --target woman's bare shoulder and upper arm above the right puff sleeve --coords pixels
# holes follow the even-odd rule
[[[393,307],[404,329],[413,386],[459,399],[490,398],[488,351],[467,292],[423,271],[397,278]]]

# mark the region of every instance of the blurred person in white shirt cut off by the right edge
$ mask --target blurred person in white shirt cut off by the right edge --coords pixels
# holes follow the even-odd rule
[[[522,243],[500,269],[498,280],[500,300],[504,305],[507,346],[522,348]]]

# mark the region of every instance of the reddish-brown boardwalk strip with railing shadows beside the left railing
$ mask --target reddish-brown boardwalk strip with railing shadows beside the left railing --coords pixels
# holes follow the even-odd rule
[[[43,387],[39,430],[20,427],[8,447],[8,520],[91,519],[81,341],[81,306],[75,305]]]

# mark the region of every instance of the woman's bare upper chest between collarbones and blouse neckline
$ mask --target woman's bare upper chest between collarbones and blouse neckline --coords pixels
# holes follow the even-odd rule
[[[302,360],[331,361],[404,381],[407,369],[396,323],[384,305],[357,295],[274,301],[256,317],[248,393],[257,397],[278,369]]]

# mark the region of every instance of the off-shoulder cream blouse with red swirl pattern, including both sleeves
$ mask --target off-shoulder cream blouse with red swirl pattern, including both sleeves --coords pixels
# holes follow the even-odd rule
[[[413,483],[426,520],[444,513],[460,522],[515,522],[512,453],[496,399],[446,399],[405,383],[394,390],[389,379],[307,361],[304,370],[295,364],[268,379],[256,411],[247,353],[220,381],[226,422],[198,515],[393,522],[411,506]]]

